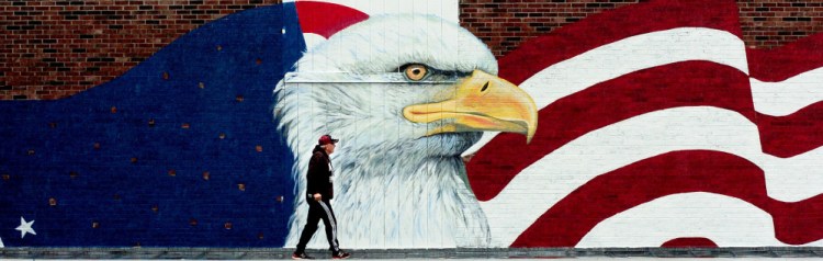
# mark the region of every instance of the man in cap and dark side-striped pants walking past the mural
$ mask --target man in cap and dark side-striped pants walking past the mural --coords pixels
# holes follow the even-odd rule
[[[308,161],[308,172],[306,172],[306,202],[308,202],[308,218],[303,234],[300,235],[297,250],[292,254],[292,259],[312,259],[306,256],[306,243],[317,231],[317,222],[323,219],[326,226],[326,238],[331,249],[332,259],[347,259],[351,254],[340,250],[337,241],[337,218],[331,209],[329,200],[335,196],[332,189],[334,168],[329,155],[335,152],[338,139],[329,135],[320,136],[317,146],[314,147],[312,159]]]

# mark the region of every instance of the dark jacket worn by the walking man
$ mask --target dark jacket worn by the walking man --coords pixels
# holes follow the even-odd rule
[[[312,195],[320,193],[323,200],[331,200],[335,197],[334,189],[331,188],[331,160],[319,145],[314,147],[312,159],[308,160],[308,171],[306,172],[306,193],[308,198],[313,198]]]

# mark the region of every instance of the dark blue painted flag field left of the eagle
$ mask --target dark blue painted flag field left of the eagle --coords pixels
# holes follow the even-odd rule
[[[293,156],[272,90],[304,48],[294,4],[270,5],[79,94],[1,101],[0,247],[282,247]]]

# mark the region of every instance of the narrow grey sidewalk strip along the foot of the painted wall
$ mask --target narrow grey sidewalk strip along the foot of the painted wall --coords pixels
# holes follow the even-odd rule
[[[275,260],[291,259],[291,248],[0,248],[0,259],[217,259]],[[497,248],[497,249],[354,249],[354,259],[429,260],[429,259],[656,259],[656,258],[821,258],[823,248]],[[318,259],[329,259],[324,250],[308,250]]]

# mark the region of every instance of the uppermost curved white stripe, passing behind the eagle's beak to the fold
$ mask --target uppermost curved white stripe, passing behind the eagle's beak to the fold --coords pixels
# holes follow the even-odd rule
[[[680,27],[631,36],[554,64],[520,84],[538,109],[597,83],[638,70],[686,60],[707,60],[748,73],[743,41],[726,31]],[[538,126],[540,127],[540,126]],[[464,155],[498,133],[485,133]]]

